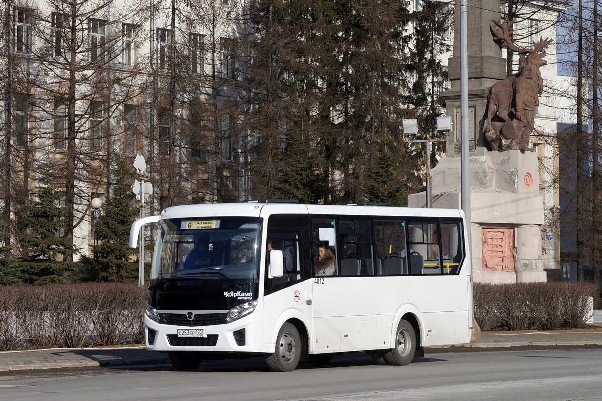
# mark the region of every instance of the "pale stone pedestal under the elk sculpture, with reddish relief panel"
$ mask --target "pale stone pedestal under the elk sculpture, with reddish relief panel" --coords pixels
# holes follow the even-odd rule
[[[460,158],[442,158],[431,175],[433,207],[460,209]],[[509,150],[473,156],[470,187],[473,281],[546,281],[537,154]],[[408,206],[426,206],[426,194],[409,195]]]

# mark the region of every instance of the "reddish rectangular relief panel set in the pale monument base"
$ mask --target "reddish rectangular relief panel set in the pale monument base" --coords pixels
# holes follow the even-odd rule
[[[482,270],[514,272],[514,228],[482,228]]]

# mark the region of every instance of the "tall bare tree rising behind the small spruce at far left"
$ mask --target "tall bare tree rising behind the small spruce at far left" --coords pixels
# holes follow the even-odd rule
[[[13,143],[23,142],[23,162],[13,164],[9,175],[21,183],[13,185],[13,194],[26,197],[29,177],[52,167],[51,181],[64,193],[67,210],[64,236],[73,242],[75,227],[87,219],[90,194],[105,188],[109,162],[122,147],[121,125],[111,121],[144,90],[141,64],[123,58],[128,36],[139,29],[147,9],[110,0],[48,0],[10,8],[14,63],[7,99],[18,117],[11,124]]]

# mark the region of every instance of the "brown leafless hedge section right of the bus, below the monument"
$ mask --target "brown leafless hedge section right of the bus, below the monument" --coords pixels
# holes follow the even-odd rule
[[[582,328],[594,292],[589,283],[475,283],[474,319],[483,331]]]

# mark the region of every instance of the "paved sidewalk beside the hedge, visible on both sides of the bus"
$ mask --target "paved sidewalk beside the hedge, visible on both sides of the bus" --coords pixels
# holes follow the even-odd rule
[[[602,310],[595,311],[594,324],[602,326]],[[547,332],[484,332],[480,343],[428,347],[427,352],[444,349],[496,349],[507,347],[602,347],[602,329]],[[144,347],[59,348],[0,352],[0,374],[19,370],[67,369],[167,363],[167,354]]]

